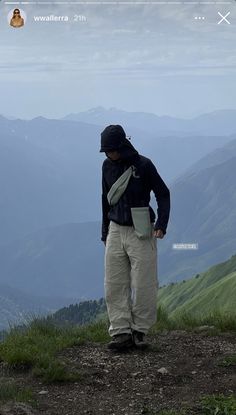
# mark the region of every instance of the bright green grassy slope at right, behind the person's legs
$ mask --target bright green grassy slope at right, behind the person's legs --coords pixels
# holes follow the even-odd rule
[[[236,255],[188,281],[162,287],[158,303],[168,312],[205,313],[216,308],[234,311],[236,303]]]

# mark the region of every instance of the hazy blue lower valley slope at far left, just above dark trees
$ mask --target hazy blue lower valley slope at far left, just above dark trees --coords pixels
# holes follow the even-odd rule
[[[79,298],[39,297],[0,283],[0,330],[29,321],[33,316],[47,315],[79,301]]]

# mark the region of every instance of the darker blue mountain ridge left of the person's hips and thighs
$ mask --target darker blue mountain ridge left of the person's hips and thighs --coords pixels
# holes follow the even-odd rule
[[[69,223],[0,247],[0,283],[34,296],[102,297],[100,229],[98,222]]]

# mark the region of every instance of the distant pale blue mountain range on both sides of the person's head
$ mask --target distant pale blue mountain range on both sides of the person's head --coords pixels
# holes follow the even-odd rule
[[[102,128],[42,117],[0,117],[0,245],[47,226],[101,219]],[[233,138],[167,138],[136,129],[133,144],[152,159],[170,185]]]

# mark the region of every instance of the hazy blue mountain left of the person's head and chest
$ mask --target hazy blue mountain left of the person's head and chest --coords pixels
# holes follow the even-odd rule
[[[0,122],[0,244],[45,226],[100,219],[102,159],[98,143],[93,144],[96,127],[65,123],[75,126],[73,132],[69,125],[60,130],[59,121],[51,125],[44,119],[4,124],[8,135]]]

